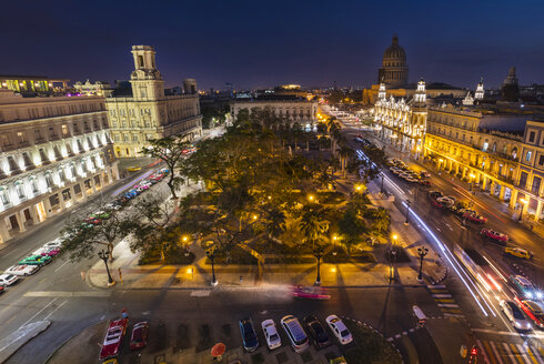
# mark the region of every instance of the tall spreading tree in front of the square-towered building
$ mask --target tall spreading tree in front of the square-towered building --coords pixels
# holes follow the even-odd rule
[[[149,146],[142,148],[141,154],[158,158],[168,165],[170,174],[167,184],[172,193],[172,199],[177,200],[175,190],[184,182],[184,179],[177,171],[177,166],[185,158],[190,143],[177,136],[153,139],[148,141],[148,143]]]

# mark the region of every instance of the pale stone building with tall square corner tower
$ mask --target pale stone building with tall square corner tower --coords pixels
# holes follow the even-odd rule
[[[117,156],[139,156],[142,146],[151,139],[180,135],[193,140],[201,136],[197,81],[185,80],[184,94],[165,95],[153,48],[133,46],[132,55],[132,97],[105,99]]]

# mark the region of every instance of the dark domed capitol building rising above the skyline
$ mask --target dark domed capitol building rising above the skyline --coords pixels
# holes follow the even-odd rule
[[[377,82],[383,82],[390,88],[403,88],[407,84],[406,52],[399,46],[396,34],[383,53],[382,68],[377,70]]]

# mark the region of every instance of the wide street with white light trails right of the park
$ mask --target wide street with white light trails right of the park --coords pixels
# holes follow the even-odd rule
[[[343,132],[350,141],[353,141],[354,136],[362,132],[364,138],[367,138],[377,146],[381,148],[385,144],[377,140],[369,129],[362,131],[361,123],[346,122],[343,127]],[[355,141],[352,142],[352,145],[355,149],[360,149]],[[385,144],[385,152],[387,156],[403,159],[414,170],[422,169],[415,161],[410,160],[389,144]],[[492,208],[491,199],[480,198],[478,194],[472,195],[463,182],[452,181],[450,175],[445,173],[439,175],[429,166],[423,169],[432,172],[430,179],[432,186],[430,189],[414,188],[413,184],[396,178],[386,169],[382,170],[385,175],[383,185],[386,191],[395,196],[395,205],[400,211],[405,212],[405,201],[411,201],[410,221],[412,224],[415,223],[417,225],[422,235],[434,245],[435,250],[441,251],[440,244],[444,244],[451,250],[454,243],[460,244],[462,247],[475,249],[482,255],[488,257],[504,277],[511,274],[520,274],[520,271],[514,266],[515,263],[537,286],[542,286],[542,256],[544,256],[544,252],[543,241],[540,236],[522,228],[504,212]],[[374,180],[374,184],[380,186],[381,179]],[[454,214],[431,205],[427,200],[427,191],[431,190],[441,191],[445,195],[453,195],[457,201],[469,202],[469,200],[473,200],[475,209],[488,218],[488,222],[485,224],[486,228],[508,234],[520,246],[534,251],[535,259],[531,262],[523,262],[504,256],[502,254],[503,246],[493,244],[480,236],[481,225],[472,223],[463,225],[463,222]],[[513,300],[513,293],[507,282],[501,282],[503,285],[502,292],[495,294],[486,293],[453,254],[447,252],[447,250],[442,251],[442,254],[450,263],[450,274],[445,282],[447,291],[459,303],[472,333],[477,337],[483,358],[491,363],[510,363],[511,361],[513,363],[542,363],[544,355],[542,346],[544,335],[542,331],[534,328],[528,333],[521,334],[512,327],[500,311],[500,300]],[[538,357],[535,351],[527,352],[527,345],[534,346],[541,356]]]

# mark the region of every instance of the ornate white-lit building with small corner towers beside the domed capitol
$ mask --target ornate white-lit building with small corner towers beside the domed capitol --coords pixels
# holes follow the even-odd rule
[[[419,154],[426,130],[425,82],[420,80],[412,99],[386,97],[385,83],[380,84],[380,99],[374,104],[374,124],[380,138],[401,151]]]

